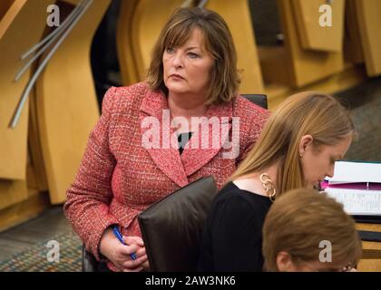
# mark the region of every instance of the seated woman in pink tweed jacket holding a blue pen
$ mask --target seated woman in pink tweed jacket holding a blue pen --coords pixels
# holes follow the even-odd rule
[[[206,9],[181,8],[161,32],[147,81],[106,92],[64,204],[98,260],[114,271],[148,267],[136,216],[201,177],[212,175],[219,188],[230,177],[269,116],[238,87],[227,24]],[[180,150],[176,134],[184,132],[191,137]],[[112,225],[129,246],[113,236]]]

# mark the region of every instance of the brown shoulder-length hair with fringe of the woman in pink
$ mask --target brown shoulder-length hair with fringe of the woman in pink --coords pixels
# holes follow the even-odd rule
[[[179,8],[171,15],[152,50],[147,83],[153,91],[168,95],[163,80],[162,55],[168,47],[185,43],[196,28],[203,36],[204,49],[214,59],[205,105],[230,102],[236,96],[240,83],[233,38],[222,17],[204,8]]]

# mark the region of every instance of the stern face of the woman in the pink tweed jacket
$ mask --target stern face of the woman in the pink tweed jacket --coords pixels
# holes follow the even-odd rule
[[[202,34],[195,28],[186,43],[167,47],[162,55],[164,83],[171,94],[205,97],[213,58],[203,47]]]

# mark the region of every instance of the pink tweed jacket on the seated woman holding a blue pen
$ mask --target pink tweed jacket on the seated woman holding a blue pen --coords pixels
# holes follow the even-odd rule
[[[142,135],[149,129],[143,128],[142,121],[150,116],[161,120],[164,109],[168,109],[166,97],[152,92],[145,82],[112,87],[104,96],[102,116],[90,134],[64,204],[73,229],[97,259],[101,259],[98,247],[103,231],[112,224],[121,225],[123,235],[141,236],[136,216],[153,202],[208,175],[220,188],[269,117],[269,111],[240,96],[235,102],[211,105],[207,117],[230,121],[239,117],[239,156],[226,159],[221,146],[185,148],[181,155],[176,148],[144,148]],[[211,135],[211,125],[209,130]]]

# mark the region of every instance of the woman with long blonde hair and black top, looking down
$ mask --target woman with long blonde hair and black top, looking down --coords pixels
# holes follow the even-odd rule
[[[261,271],[261,232],[272,201],[333,176],[335,160],[343,159],[355,134],[347,110],[332,96],[300,92],[282,102],[213,202],[200,270]]]

